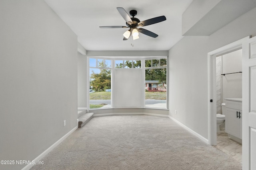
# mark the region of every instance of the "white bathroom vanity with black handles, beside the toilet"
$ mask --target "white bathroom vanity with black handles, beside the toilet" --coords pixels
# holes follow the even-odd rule
[[[242,99],[226,98],[225,131],[228,137],[242,143]]]

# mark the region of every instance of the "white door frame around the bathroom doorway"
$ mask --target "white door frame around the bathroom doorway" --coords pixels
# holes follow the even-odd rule
[[[216,124],[216,57],[242,49],[242,43],[250,39],[244,37],[238,41],[220,47],[208,53],[208,143],[217,145]],[[245,56],[242,56],[242,58]],[[212,100],[212,102],[210,102]]]

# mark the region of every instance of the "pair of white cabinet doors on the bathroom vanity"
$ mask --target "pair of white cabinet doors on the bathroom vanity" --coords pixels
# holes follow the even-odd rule
[[[240,110],[227,108],[226,119],[225,119],[225,123],[226,123],[225,131],[230,135],[241,138],[240,137],[240,119],[237,117],[237,111],[239,116]]]

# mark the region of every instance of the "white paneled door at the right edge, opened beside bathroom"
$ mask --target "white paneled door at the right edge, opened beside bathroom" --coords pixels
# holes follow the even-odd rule
[[[256,37],[242,44],[242,164],[256,169]]]

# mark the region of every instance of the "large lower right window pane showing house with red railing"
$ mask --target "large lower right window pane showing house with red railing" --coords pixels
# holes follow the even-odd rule
[[[145,107],[166,108],[166,68],[145,70]]]

